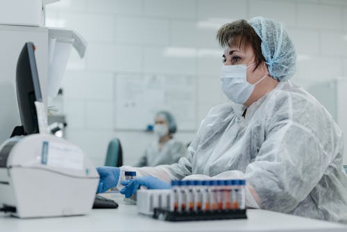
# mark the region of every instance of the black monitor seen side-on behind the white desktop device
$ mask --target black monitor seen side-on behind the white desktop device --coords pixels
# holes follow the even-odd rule
[[[42,95],[34,51],[34,44],[26,42],[17,62],[17,100],[25,134],[39,133],[35,101],[42,101]]]

